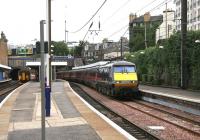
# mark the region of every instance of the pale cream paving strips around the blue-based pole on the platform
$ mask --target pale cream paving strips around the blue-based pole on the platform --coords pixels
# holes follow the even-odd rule
[[[41,96],[38,93],[36,95],[33,119],[29,122],[12,122],[9,123],[9,132],[17,130],[27,129],[40,129],[41,128]],[[29,108],[14,109],[20,111]],[[87,122],[82,117],[63,119],[60,110],[58,109],[56,102],[51,98],[51,116],[45,118],[46,127],[62,127],[62,126],[74,126],[74,125],[86,125]]]

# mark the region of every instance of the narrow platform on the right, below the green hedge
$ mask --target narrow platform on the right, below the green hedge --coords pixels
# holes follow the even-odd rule
[[[200,91],[140,85],[143,99],[200,115]]]

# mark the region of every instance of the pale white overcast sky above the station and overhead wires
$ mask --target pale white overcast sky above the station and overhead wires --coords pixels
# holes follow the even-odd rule
[[[65,40],[65,20],[68,31],[66,40],[77,41],[84,36],[93,22],[85,40],[90,43],[102,42],[104,38],[118,41],[121,36],[128,37],[129,14],[137,16],[149,12],[160,15],[167,7],[174,9],[173,0],[107,0],[95,17],[83,28],[105,0],[51,0],[52,40]],[[46,20],[47,0],[0,0],[0,31],[8,39],[8,44],[34,44],[40,39],[40,20]],[[80,31],[76,32],[77,30]],[[75,33],[74,33],[75,32]],[[45,25],[45,40],[46,35]]]

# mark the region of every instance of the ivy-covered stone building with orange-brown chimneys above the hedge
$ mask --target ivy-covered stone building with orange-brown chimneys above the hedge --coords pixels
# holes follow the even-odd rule
[[[143,50],[155,46],[156,29],[163,22],[163,15],[151,16],[149,12],[142,16],[129,15],[130,51]]]

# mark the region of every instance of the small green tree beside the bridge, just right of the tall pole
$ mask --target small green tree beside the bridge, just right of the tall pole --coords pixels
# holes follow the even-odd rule
[[[67,56],[69,54],[69,49],[64,41],[52,41],[52,45],[54,46],[54,48],[52,48],[54,55]]]

